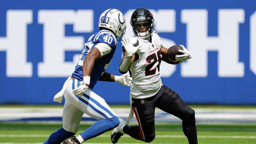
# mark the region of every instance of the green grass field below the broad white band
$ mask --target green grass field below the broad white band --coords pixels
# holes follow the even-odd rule
[[[81,124],[77,134],[90,125]],[[61,124],[17,124],[0,123],[0,143],[42,143],[49,135],[61,128]],[[151,143],[188,143],[181,124],[158,124],[156,138]],[[197,125],[199,143],[255,144],[256,124]],[[110,131],[85,143],[111,143]],[[144,143],[124,135],[118,143]]]

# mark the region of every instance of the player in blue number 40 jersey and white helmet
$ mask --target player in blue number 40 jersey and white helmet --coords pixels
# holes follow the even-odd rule
[[[126,30],[121,11],[117,9],[104,11],[99,18],[99,29],[100,31],[91,35],[85,43],[85,49],[75,66],[75,71],[54,97],[54,101],[57,102],[61,102],[62,95],[65,97],[63,127],[52,133],[44,144],[57,144],[62,141],[67,144],[80,144],[119,124],[117,115],[92,89],[98,80],[131,86],[132,79],[128,75],[115,76],[105,72],[115,52],[117,41]],[[84,113],[98,121],[75,137],[73,135],[78,131]]]

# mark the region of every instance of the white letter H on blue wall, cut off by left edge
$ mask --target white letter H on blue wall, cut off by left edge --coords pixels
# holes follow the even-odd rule
[[[27,62],[27,24],[32,21],[32,10],[8,10],[6,13],[6,38],[0,37],[0,51],[6,51],[7,77],[32,76],[32,63]]]

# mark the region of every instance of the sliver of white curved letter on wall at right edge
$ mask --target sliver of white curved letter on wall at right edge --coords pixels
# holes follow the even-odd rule
[[[256,11],[250,17],[250,69],[256,75]]]

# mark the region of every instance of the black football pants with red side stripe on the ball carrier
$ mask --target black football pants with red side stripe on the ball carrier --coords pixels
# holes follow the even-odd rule
[[[125,126],[123,131],[135,139],[151,142],[155,138],[155,107],[182,119],[183,132],[190,144],[197,144],[195,111],[175,91],[161,86],[159,92],[146,99],[132,99],[132,107],[139,126]]]

